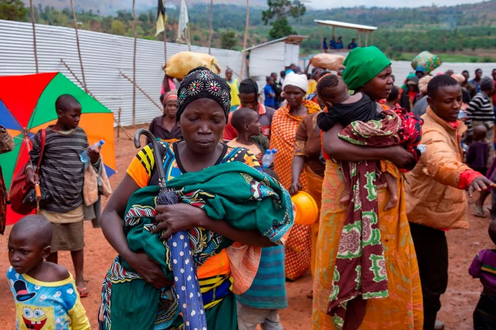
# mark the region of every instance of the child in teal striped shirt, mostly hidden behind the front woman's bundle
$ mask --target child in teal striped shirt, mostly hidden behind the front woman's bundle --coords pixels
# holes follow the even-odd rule
[[[262,170],[279,181],[270,168]],[[238,301],[238,330],[282,330],[278,310],[288,307],[284,246],[262,248],[258,271],[248,291],[236,296]]]

